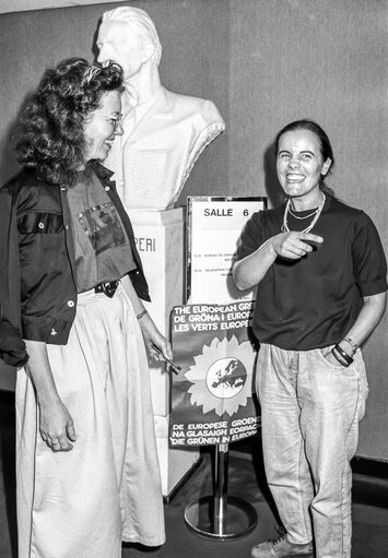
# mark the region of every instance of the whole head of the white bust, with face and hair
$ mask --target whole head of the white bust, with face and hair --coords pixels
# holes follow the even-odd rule
[[[128,80],[146,63],[158,66],[162,46],[155,25],[140,8],[120,7],[104,13],[98,29],[98,62],[114,60]]]

